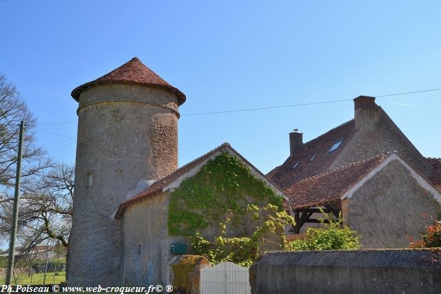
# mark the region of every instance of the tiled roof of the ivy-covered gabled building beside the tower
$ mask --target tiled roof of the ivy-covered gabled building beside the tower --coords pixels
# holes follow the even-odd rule
[[[194,167],[196,167],[200,163],[204,162],[205,160],[207,160],[208,158],[210,158],[211,156],[216,154],[216,152],[227,151],[227,149],[234,151],[234,154],[236,154],[240,158],[240,160],[245,162],[245,164],[247,166],[254,169],[258,174],[260,174],[261,177],[265,178],[265,180],[267,182],[269,182],[274,188],[276,188],[278,191],[280,191],[280,193],[282,193],[283,196],[286,197],[286,195],[283,193],[283,191],[281,189],[279,189],[278,186],[274,182],[272,182],[269,178],[267,178],[264,174],[262,174],[258,169],[256,169],[256,167],[254,167],[254,165],[252,165],[248,160],[246,160],[243,156],[241,156],[238,153],[238,151],[236,151],[233,147],[231,147],[231,145],[229,145],[229,143],[223,143],[222,145],[220,145],[219,147],[216,147],[212,151],[209,151],[206,154],[204,154],[203,156],[196,158],[192,162],[187,163],[187,165],[183,165],[182,167],[176,169],[176,171],[172,172],[172,174],[165,176],[164,178],[161,178],[161,180],[157,180],[150,187],[148,187],[145,191],[142,191],[141,193],[138,193],[134,197],[122,202],[120,204],[118,210],[116,211],[115,218],[121,217],[123,215],[125,209],[129,205],[134,204],[136,202],[139,202],[147,197],[156,195],[158,193],[162,193],[164,187],[166,187],[167,185],[170,185],[170,183],[174,182],[175,180],[177,180],[178,178],[180,178],[181,176],[186,174],[188,171],[190,171],[191,169],[193,169]]]

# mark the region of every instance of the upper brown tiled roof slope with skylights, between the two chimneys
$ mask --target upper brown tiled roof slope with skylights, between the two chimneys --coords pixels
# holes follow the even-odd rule
[[[279,187],[288,187],[304,178],[324,173],[330,169],[332,163],[354,133],[355,120],[349,120],[347,123],[331,129],[329,132],[303,144],[296,151],[295,156],[290,156],[283,165],[270,171],[267,177],[276,182]],[[331,146],[340,139],[343,139],[340,147],[336,151],[328,153]],[[314,160],[309,161],[314,154],[317,154]],[[299,164],[293,169],[296,162],[299,162]]]

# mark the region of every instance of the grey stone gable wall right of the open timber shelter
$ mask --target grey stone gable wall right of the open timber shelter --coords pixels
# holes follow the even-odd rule
[[[361,236],[362,248],[405,248],[418,240],[441,206],[406,167],[392,160],[351,198],[343,201],[346,225]]]

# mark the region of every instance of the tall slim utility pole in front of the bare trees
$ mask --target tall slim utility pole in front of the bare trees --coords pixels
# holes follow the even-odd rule
[[[22,151],[22,146],[23,146],[24,127],[25,127],[25,123],[23,120],[21,120],[20,137],[19,137],[19,151],[17,154],[17,174],[15,175],[14,207],[12,209],[11,240],[9,243],[8,270],[6,271],[6,279],[5,279],[6,285],[11,285],[12,271],[14,271],[15,240],[17,239],[17,223],[19,221],[21,151]]]

